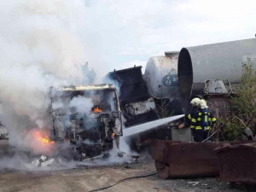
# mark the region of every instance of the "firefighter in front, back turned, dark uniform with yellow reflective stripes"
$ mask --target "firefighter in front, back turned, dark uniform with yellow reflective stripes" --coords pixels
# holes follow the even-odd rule
[[[202,142],[207,139],[209,131],[216,123],[216,118],[208,110],[207,102],[204,99],[200,101],[200,110],[191,114],[191,125],[194,127],[195,142]]]

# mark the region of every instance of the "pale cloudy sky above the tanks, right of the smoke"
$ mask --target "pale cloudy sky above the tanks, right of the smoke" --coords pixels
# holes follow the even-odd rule
[[[253,0],[84,0],[89,66],[112,71],[183,47],[254,38]],[[99,65],[100,64],[100,65]]]

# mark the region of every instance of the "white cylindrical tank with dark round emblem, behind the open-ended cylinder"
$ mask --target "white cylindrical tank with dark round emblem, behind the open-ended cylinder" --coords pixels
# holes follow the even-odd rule
[[[177,81],[178,52],[172,51],[165,54],[150,57],[144,74],[149,94],[159,99],[179,96]]]

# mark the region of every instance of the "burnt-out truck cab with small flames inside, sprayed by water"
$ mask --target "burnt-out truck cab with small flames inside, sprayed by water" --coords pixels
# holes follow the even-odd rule
[[[122,135],[121,111],[113,84],[51,88],[51,139],[72,143],[76,158],[108,154]]]

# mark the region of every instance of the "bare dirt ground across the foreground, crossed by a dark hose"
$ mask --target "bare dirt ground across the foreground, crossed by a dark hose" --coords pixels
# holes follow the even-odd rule
[[[0,191],[90,191],[116,183],[125,177],[146,175],[154,172],[154,161],[149,159],[129,165],[79,167],[58,172],[2,172],[0,176]],[[256,190],[243,185],[231,187],[228,183],[218,182],[216,178],[164,180],[154,175],[127,180],[104,191],[239,192]]]

